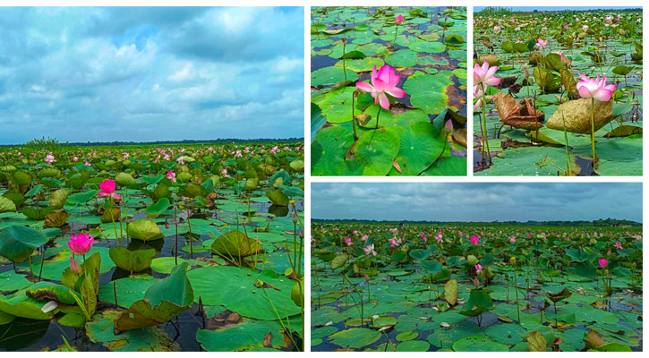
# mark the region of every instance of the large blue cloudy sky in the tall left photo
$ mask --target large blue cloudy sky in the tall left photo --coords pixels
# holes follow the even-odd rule
[[[303,7],[0,8],[0,144],[303,137]]]

